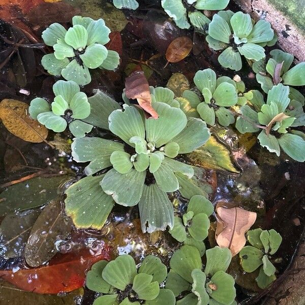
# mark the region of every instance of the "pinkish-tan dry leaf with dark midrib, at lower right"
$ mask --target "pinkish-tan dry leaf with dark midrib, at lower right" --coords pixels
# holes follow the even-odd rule
[[[256,213],[240,207],[217,207],[216,241],[218,246],[229,248],[232,256],[246,245],[245,233],[256,221]]]

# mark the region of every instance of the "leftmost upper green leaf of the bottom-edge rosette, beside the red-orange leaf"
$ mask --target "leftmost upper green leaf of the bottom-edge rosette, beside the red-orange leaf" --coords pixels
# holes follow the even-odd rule
[[[109,293],[111,290],[111,285],[108,284],[102,277],[102,272],[106,265],[107,261],[101,260],[91,267],[86,275],[86,286],[93,291]]]

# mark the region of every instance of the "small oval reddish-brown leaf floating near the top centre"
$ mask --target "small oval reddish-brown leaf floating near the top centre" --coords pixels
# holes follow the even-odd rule
[[[186,58],[193,48],[193,41],[185,36],[173,40],[166,50],[166,59],[169,63],[178,63]]]

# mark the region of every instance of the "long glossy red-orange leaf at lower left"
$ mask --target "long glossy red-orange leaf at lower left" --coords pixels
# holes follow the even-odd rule
[[[85,272],[100,260],[110,260],[110,248],[104,246],[92,255],[92,250],[82,249],[77,253],[57,255],[49,265],[32,268],[0,271],[0,277],[18,288],[36,293],[70,292],[83,286]]]

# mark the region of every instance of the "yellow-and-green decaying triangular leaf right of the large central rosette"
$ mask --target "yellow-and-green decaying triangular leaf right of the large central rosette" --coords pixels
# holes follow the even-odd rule
[[[239,170],[231,160],[230,151],[218,142],[214,136],[211,136],[203,146],[194,150],[186,157],[188,163],[195,166],[239,173]]]

